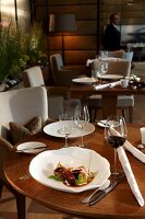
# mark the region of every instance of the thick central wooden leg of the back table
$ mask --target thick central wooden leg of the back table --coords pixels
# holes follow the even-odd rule
[[[117,95],[102,95],[102,118],[117,115]]]

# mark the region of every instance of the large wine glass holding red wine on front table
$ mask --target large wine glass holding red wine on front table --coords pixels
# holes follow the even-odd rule
[[[114,170],[112,175],[121,177],[123,173],[117,168],[117,148],[123,146],[128,135],[125,119],[123,116],[111,115],[105,126],[105,139],[114,149]]]

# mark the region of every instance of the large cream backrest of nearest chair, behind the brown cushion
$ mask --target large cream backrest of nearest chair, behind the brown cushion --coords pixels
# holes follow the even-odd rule
[[[26,124],[40,116],[48,119],[47,91],[43,87],[0,92],[0,136],[7,139],[9,123]]]

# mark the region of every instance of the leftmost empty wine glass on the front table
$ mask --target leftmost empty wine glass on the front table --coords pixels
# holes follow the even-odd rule
[[[67,147],[69,147],[68,137],[72,132],[72,129],[73,129],[73,115],[71,115],[71,114],[59,115],[59,120],[62,123],[60,132],[61,132],[61,135],[63,135],[65,137],[64,147],[67,148]]]

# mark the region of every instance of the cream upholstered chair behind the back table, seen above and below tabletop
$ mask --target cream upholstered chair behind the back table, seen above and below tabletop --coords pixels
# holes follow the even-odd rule
[[[98,60],[95,60],[95,64],[93,64],[93,68],[95,68],[98,65]],[[123,77],[130,76],[131,71],[131,62],[128,60],[119,60],[119,61],[109,61],[108,62],[108,73],[116,73],[116,74],[122,74]],[[88,106],[90,111],[90,115],[93,115],[93,110],[95,111],[94,113],[94,118],[92,116],[92,120],[95,119],[96,113],[98,108],[101,108],[101,95],[92,95],[88,99]],[[109,106],[108,106],[109,107]],[[133,95],[119,95],[118,96],[118,102],[117,102],[117,107],[118,110],[122,111],[122,114],[124,117],[125,116],[125,111],[129,110],[129,122],[132,122],[133,117],[133,107],[134,107],[134,96]]]

